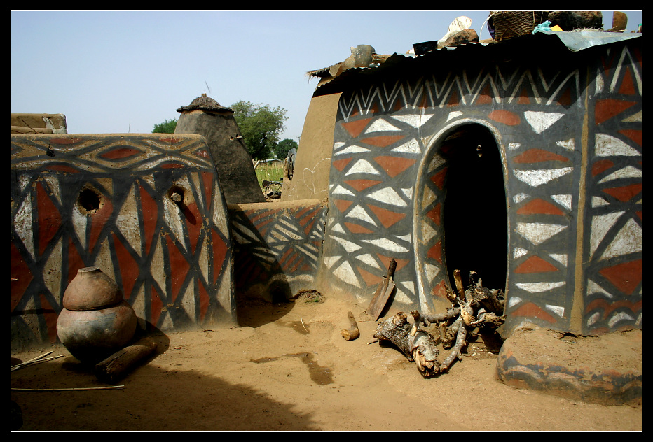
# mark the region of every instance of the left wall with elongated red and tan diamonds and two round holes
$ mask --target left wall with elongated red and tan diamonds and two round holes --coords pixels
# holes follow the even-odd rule
[[[232,322],[231,234],[205,141],[12,136],[15,345],[54,342],[63,293],[99,266],[143,328]]]

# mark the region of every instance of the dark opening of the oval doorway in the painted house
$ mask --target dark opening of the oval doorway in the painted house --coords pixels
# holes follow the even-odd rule
[[[483,286],[505,292],[508,215],[495,138],[480,124],[465,125],[447,136],[441,152],[449,164],[443,218],[451,287],[455,269],[460,269],[465,289],[473,270]]]

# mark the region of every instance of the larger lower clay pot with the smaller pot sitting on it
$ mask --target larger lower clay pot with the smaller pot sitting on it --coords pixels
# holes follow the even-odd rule
[[[62,308],[57,335],[71,355],[96,364],[121,350],[134,337],[136,313],[127,301],[97,310]]]

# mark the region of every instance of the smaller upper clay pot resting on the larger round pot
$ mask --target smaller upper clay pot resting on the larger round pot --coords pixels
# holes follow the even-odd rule
[[[120,287],[99,267],[84,267],[64,292],[67,310],[83,311],[113,306],[123,300]]]

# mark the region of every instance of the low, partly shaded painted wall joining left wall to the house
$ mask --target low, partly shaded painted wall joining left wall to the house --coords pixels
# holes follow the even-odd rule
[[[238,293],[282,301],[312,287],[326,220],[321,201],[239,204],[229,217]]]

